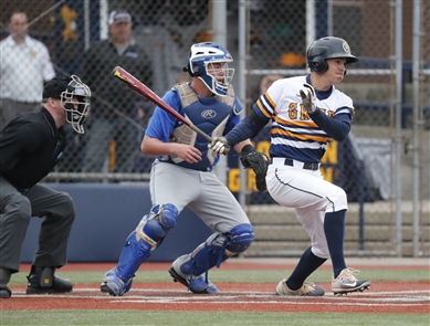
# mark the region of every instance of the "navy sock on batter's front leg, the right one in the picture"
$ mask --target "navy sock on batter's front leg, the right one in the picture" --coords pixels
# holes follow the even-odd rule
[[[324,232],[327,239],[335,278],[342,270],[346,269],[344,256],[345,212],[346,210],[326,213],[324,219]]]

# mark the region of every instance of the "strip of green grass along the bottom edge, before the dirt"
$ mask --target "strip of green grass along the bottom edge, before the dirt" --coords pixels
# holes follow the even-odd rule
[[[1,312],[0,325],[366,325],[429,326],[428,314],[220,313],[153,311]]]

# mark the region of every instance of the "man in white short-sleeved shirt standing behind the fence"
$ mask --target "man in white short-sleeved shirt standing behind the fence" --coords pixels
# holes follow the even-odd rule
[[[28,34],[27,13],[13,12],[8,28],[10,35],[0,42],[1,128],[39,109],[43,83],[55,76],[46,46]]]

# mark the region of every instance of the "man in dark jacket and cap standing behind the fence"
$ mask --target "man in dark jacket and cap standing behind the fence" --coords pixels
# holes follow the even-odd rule
[[[109,14],[109,39],[99,41],[85,53],[83,78],[93,92],[91,130],[83,172],[102,172],[109,145],[115,140],[115,172],[132,172],[138,150],[136,108],[141,103],[137,93],[119,83],[112,72],[119,65],[151,87],[151,62],[143,45],[132,38],[132,15],[124,10]],[[145,103],[144,103],[145,104]]]

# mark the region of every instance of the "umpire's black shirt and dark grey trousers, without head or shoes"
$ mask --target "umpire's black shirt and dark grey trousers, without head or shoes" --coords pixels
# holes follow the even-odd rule
[[[0,134],[0,269],[18,272],[31,217],[45,217],[33,265],[60,267],[75,209],[67,193],[38,185],[65,147],[63,127],[42,107],[13,119]]]

